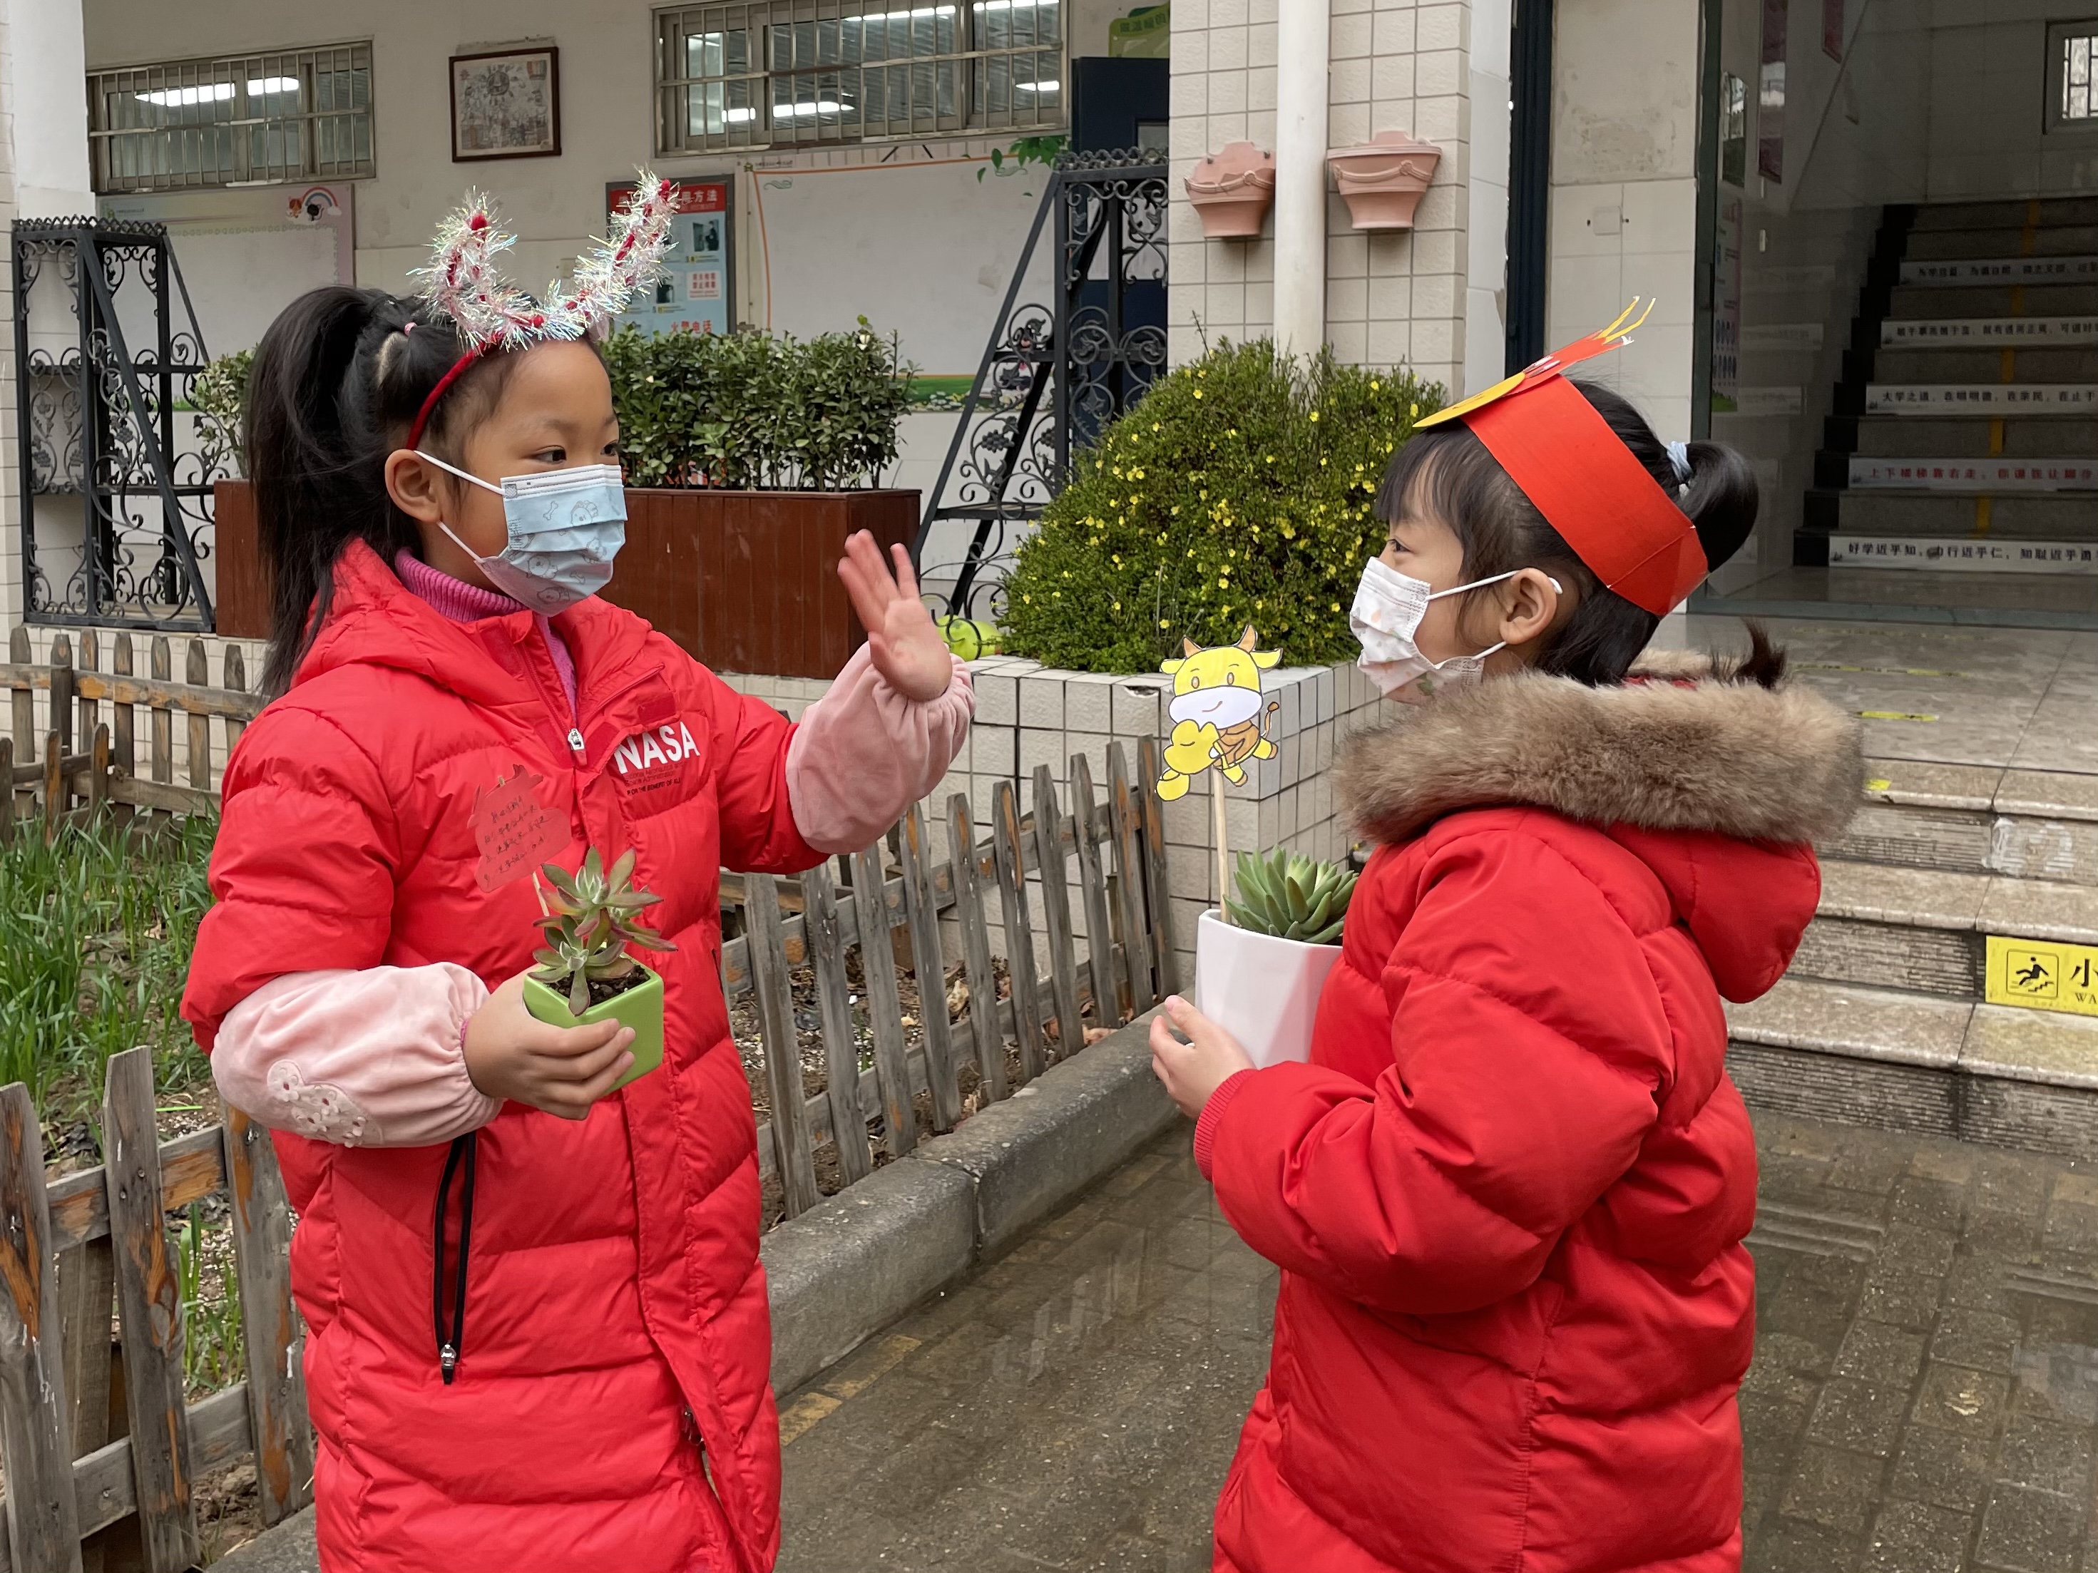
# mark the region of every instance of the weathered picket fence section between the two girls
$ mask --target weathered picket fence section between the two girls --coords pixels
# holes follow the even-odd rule
[[[1156,740],[1139,742],[1137,782],[1158,778]],[[1070,812],[1049,766],[1034,772],[1032,812],[1020,814],[1013,782],[992,793],[990,837],[978,841],[969,799],[948,799],[944,862],[934,862],[927,824],[913,805],[892,845],[896,875],[881,849],[850,860],[852,885],[839,889],[829,866],[799,879],[724,875],[724,906],[741,906],[745,935],[722,948],[722,988],[730,1003],[755,994],[772,1118],[757,1128],[764,1179],[776,1179],[787,1216],[820,1200],[814,1154],[837,1151],[839,1179],[852,1185],[875,1164],[875,1139],[890,1158],[919,1141],[915,1101],[923,1093],[932,1130],[963,1118],[963,1065],[976,1070],[978,1107],[997,1103],[1047,1065],[1085,1044],[1085,1028],[1114,1028],[1179,990],[1166,900],[1164,824],[1156,795],[1131,782],[1120,742],[1108,745],[1108,795],[1099,801],[1083,753],[1070,759]],[[1072,870],[1076,862],[1076,870]],[[1030,877],[1036,887],[1030,889]],[[1085,921],[1085,958],[1076,950],[1076,910]],[[1036,929],[1036,902],[1041,929]],[[787,912],[785,908],[799,908]],[[992,910],[1003,933],[1011,988],[999,998],[990,961]],[[942,923],[961,950],[969,1007],[948,1021]],[[892,931],[908,933],[919,982],[921,1047],[906,1047],[896,988]],[[881,935],[873,946],[869,935]],[[1041,946],[1036,946],[1036,933]],[[858,946],[873,1065],[858,1068],[858,1030],[848,992],[848,948]],[[1036,973],[1036,950],[1047,973]],[[801,1093],[801,1053],[789,973],[810,967],[822,1019],[825,1091]],[[1018,1044],[1018,1074],[1007,1072],[1005,1042]]]

